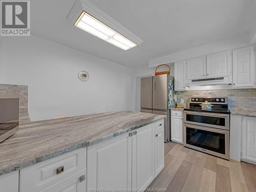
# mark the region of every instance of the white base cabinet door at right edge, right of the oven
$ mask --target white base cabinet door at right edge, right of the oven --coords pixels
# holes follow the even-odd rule
[[[256,118],[243,117],[242,159],[256,163]]]

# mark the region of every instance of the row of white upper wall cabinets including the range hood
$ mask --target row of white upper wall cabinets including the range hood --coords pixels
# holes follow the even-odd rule
[[[225,89],[256,88],[255,55],[250,46],[175,62],[174,89],[186,91],[195,90],[193,86],[221,84]]]

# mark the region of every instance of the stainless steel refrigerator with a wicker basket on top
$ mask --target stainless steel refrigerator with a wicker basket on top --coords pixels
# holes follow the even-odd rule
[[[170,92],[173,91],[173,77],[158,75],[141,78],[140,84],[141,112],[166,115],[164,120],[164,142],[170,141],[170,122],[168,105],[174,103]]]

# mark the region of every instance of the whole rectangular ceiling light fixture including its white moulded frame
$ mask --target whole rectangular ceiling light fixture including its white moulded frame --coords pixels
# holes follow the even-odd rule
[[[123,50],[137,47],[143,42],[138,36],[87,0],[76,0],[67,19],[71,25]]]

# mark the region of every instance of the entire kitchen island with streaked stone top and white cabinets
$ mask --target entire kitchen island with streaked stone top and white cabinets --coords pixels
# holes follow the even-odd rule
[[[113,168],[114,165],[117,170],[124,170],[122,168],[126,167],[125,170],[127,169],[129,173],[123,174],[128,175],[125,178],[121,178],[120,175],[118,176],[121,180],[127,181],[125,186],[128,188],[147,187],[148,182],[155,178],[155,173],[158,174],[163,168],[163,157],[161,157],[161,154],[163,154],[164,150],[164,118],[165,116],[163,115],[125,111],[35,121],[23,124],[19,127],[19,131],[15,135],[0,143],[0,175],[5,176],[4,174],[19,170],[19,173],[17,173],[21,181],[20,191],[34,192],[53,185],[49,189],[51,191],[55,190],[56,185],[59,185],[57,183],[61,181],[67,184],[70,181],[70,184],[74,184],[78,188],[80,186],[81,190],[78,191],[84,191],[85,184],[81,185],[81,183],[88,183],[88,185],[91,183],[92,187],[104,186],[102,183],[97,183],[98,181],[96,180],[100,178],[96,178],[96,175],[95,181],[92,181],[92,175],[102,170],[102,167],[96,167],[101,165],[95,163],[99,163],[99,159],[103,157],[101,162],[106,163],[104,165],[106,169],[102,170],[102,174],[98,173],[100,177],[105,177],[106,175],[104,174],[110,171],[108,168]],[[100,150],[98,150],[99,148]],[[110,151],[106,150],[107,148]],[[119,156],[124,150],[125,152],[122,153],[122,156]],[[145,154],[143,154],[143,151]],[[150,152],[152,158],[142,159],[143,156],[146,157],[148,155],[147,152]],[[71,155],[69,156],[68,154]],[[125,154],[126,156],[123,157]],[[137,157],[141,156],[140,159],[135,159],[135,155]],[[113,156],[116,157],[113,158]],[[159,157],[161,158],[159,159]],[[125,161],[118,161],[118,158]],[[115,161],[115,164],[112,164],[110,160]],[[137,164],[137,167],[132,167],[132,161]],[[66,163],[66,167],[59,166],[61,163],[59,164],[58,162],[62,162],[62,164]],[[118,168],[118,165],[122,167]],[[140,181],[141,176],[138,174],[144,171],[143,167],[137,172],[137,178],[136,176],[132,177],[132,169],[136,173],[136,170],[140,169],[139,165],[146,169],[149,169],[146,165],[150,165],[150,169],[152,171],[154,170],[154,173],[150,173],[152,175],[150,180]],[[73,167],[73,169],[70,167]],[[155,172],[156,168],[157,170]],[[91,181],[81,182],[86,180],[85,175],[88,172],[90,172]],[[73,178],[73,180],[69,179],[67,181],[65,174],[68,174],[67,177],[71,178],[73,176],[75,179]],[[79,177],[79,183],[74,174],[81,175]],[[56,179],[58,176],[59,179]],[[36,181],[31,181],[33,178],[37,178],[36,180],[38,180],[38,177],[39,180],[44,181],[43,186],[40,183],[37,183],[37,185],[35,183]],[[110,178],[108,179],[106,177],[103,180],[106,183],[110,183]],[[49,183],[47,182],[48,180]],[[50,182],[50,180],[52,181]],[[145,183],[145,185],[140,185],[141,182]],[[35,185],[29,188],[33,185],[32,183]],[[61,186],[64,186],[63,183]],[[113,187],[115,187],[114,185],[115,183],[113,183]],[[120,186],[117,182],[116,187]]]

